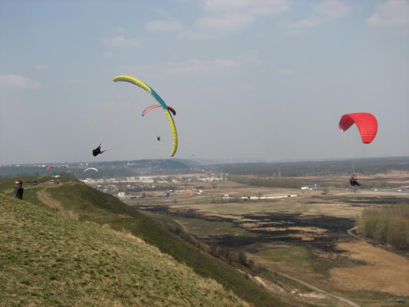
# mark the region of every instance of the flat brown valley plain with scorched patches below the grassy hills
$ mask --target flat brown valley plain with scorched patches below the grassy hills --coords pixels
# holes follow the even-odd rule
[[[407,172],[361,177],[360,180],[385,178],[402,185],[409,182]],[[309,179],[313,182],[320,178]],[[334,177],[330,180],[340,179]],[[189,184],[190,187],[194,185]],[[216,242],[220,246],[244,250],[249,258],[266,268],[349,297],[358,301],[359,305],[389,305],[394,301],[393,295],[409,296],[404,277],[384,277],[388,270],[390,276],[395,276],[394,272],[398,272],[399,268],[409,268],[409,260],[368,243],[357,242],[347,233],[354,227],[355,218],[363,208],[409,203],[408,192],[398,192],[396,188],[378,191],[330,189],[323,195],[318,189],[302,192],[299,189],[246,186],[234,182],[202,185],[204,195],[175,193],[170,198],[149,197],[125,202],[158,218],[170,218],[202,242]],[[222,199],[224,194],[229,194],[229,199]],[[241,200],[242,196],[287,194],[297,196]],[[382,287],[383,282],[387,282],[388,286]],[[305,300],[314,304],[320,301],[317,297],[303,296]],[[327,301],[324,305],[332,303]]]

